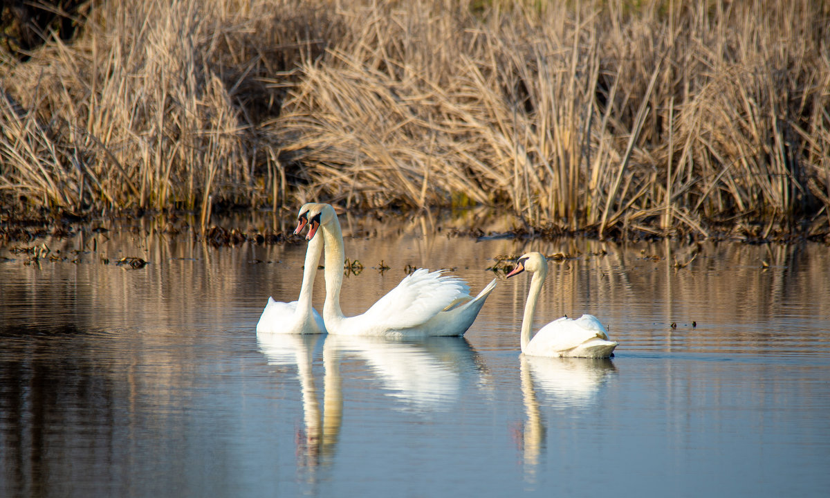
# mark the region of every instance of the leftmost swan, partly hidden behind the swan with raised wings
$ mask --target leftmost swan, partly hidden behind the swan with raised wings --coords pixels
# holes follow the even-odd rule
[[[308,223],[308,218],[297,218],[295,235]],[[256,323],[256,334],[324,334],[325,324],[320,313],[311,306],[311,293],[314,291],[314,279],[317,275],[317,264],[323,253],[323,241],[309,241],[305,250],[305,268],[303,269],[303,283],[300,285],[300,297],[290,303],[274,300],[268,297],[265,310],[262,310],[259,322]]]

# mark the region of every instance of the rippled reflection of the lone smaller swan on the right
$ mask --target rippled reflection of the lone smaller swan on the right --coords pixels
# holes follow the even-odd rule
[[[544,358],[522,354],[520,362],[521,392],[527,417],[521,441],[525,481],[535,483],[547,433],[536,387],[553,398],[560,408],[587,408],[596,400],[608,375],[615,374],[617,369],[610,359]]]

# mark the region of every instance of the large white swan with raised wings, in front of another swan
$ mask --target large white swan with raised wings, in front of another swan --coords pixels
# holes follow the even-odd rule
[[[320,229],[325,242],[323,320],[330,334],[405,338],[463,335],[496,287],[493,279],[471,299],[470,287],[460,278],[445,276],[443,270],[430,272],[419,268],[363,315],[344,316],[340,310],[340,287],[345,253],[337,213],[330,204],[308,203],[300,207],[300,217],[304,216],[309,220],[306,240],[319,239],[316,234]]]

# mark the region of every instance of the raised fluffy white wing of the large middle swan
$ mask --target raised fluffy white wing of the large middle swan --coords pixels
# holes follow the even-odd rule
[[[469,299],[470,287],[444,271],[419,268],[403,279],[363,315],[367,323],[383,323],[388,329],[408,329],[422,325],[439,311],[459,299]]]

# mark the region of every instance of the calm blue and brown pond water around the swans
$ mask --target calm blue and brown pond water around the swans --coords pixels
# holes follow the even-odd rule
[[[617,354],[521,357],[525,275],[463,338],[257,339],[267,296],[296,297],[302,243],[212,247],[137,222],[15,244],[66,261],[0,254],[0,496],[826,496],[827,247],[343,222],[364,266],[347,315],[406,265],[475,292],[493,256],[563,252],[537,328],[593,313]]]

